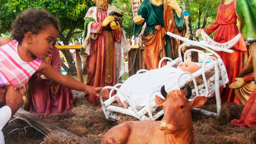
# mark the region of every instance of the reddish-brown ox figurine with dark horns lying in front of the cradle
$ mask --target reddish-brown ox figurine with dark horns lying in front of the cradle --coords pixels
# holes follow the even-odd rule
[[[191,109],[206,101],[205,96],[197,96],[188,101],[191,88],[185,84],[187,93],[173,90],[168,94],[161,88],[166,98],[155,97],[158,106],[164,107],[161,121],[127,121],[111,128],[102,138],[101,144],[194,144],[194,128]]]

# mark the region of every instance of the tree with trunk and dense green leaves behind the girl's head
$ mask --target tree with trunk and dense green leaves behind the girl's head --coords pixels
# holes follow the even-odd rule
[[[0,5],[0,36],[10,32],[12,20],[29,7],[47,9],[60,20],[61,30],[59,39],[64,45],[70,43],[74,34],[83,32],[84,16],[89,7],[94,5],[88,0],[1,0]],[[80,29],[80,30],[79,30]],[[76,75],[76,67],[69,50],[61,50],[65,55],[68,67],[61,63],[68,75]]]

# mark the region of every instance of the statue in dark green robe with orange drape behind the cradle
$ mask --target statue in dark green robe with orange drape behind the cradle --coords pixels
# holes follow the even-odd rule
[[[167,31],[183,37],[187,34],[184,14],[176,0],[144,0],[133,20],[135,36],[140,34],[146,22],[142,42],[145,45],[144,59],[147,69],[158,68],[162,57],[178,57],[180,42],[166,35]],[[166,61],[162,66],[165,64]]]

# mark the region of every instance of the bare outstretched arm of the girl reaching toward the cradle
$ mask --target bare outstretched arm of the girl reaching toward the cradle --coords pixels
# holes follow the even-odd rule
[[[42,61],[42,64],[40,65],[37,72],[42,73],[44,76],[46,76],[48,79],[63,85],[67,88],[82,91],[86,94],[94,94],[96,96],[99,96],[97,92],[99,92],[102,87],[92,87],[88,86],[82,82],[77,81],[76,79],[72,78],[68,75],[63,75],[60,72],[53,69],[53,67],[46,61]]]

